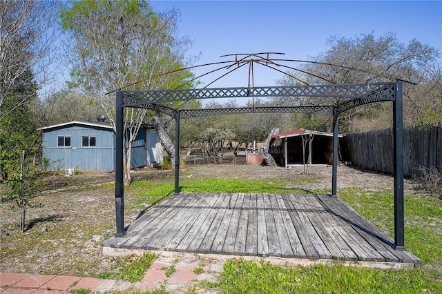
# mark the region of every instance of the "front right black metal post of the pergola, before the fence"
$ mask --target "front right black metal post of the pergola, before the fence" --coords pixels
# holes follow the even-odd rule
[[[402,83],[394,85],[394,248],[405,250],[403,213],[403,106]]]

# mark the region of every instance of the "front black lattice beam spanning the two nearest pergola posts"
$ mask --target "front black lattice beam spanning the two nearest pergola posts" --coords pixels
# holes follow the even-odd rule
[[[187,101],[192,99],[240,97],[336,97],[393,101],[394,83],[138,90],[124,91],[123,93],[123,107],[133,107],[146,103],[160,104],[171,101]]]

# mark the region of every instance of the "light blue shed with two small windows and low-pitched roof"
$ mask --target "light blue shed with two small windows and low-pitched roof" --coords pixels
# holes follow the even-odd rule
[[[41,128],[47,169],[115,170],[115,133],[102,121],[69,121]],[[133,142],[131,168],[161,164],[163,150],[155,129],[140,128]]]

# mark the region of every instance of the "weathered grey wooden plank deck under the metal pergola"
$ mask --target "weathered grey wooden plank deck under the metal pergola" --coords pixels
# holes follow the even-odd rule
[[[181,193],[148,210],[103,252],[122,250],[416,265],[343,200],[327,195]]]

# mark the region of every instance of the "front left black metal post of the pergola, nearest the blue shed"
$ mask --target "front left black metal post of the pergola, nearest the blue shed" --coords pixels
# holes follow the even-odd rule
[[[124,232],[124,183],[123,183],[123,93],[117,91],[115,124],[115,216],[117,233],[115,237],[123,237]]]

